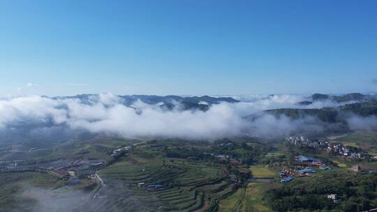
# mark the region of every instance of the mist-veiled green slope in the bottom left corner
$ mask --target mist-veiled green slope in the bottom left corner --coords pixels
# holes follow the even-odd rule
[[[96,187],[93,180],[70,184],[42,172],[2,172],[0,179],[0,212],[73,211]],[[71,205],[66,207],[67,203]]]

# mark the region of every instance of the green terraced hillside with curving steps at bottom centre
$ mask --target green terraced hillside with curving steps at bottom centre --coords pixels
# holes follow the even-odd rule
[[[105,183],[98,209],[108,211],[214,211],[218,202],[235,192],[221,167],[130,154],[98,172]],[[161,190],[139,188],[161,184]]]

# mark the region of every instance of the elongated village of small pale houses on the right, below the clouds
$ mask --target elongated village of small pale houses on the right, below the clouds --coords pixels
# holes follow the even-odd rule
[[[333,151],[339,156],[345,156],[350,159],[364,159],[368,156],[366,151],[351,146],[344,146],[339,142],[329,142],[326,140],[309,140],[303,136],[300,137],[286,137],[286,140],[293,145],[309,146],[313,149],[326,149]]]

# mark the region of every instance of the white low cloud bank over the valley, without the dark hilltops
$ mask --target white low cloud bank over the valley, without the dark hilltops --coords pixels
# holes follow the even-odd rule
[[[297,130],[320,132],[323,123],[311,116],[292,120],[287,116],[276,118],[263,113],[266,109],[321,108],[339,106],[330,100],[311,105],[298,105],[304,96],[277,95],[253,97],[240,103],[220,103],[207,111],[182,110],[179,103],[173,109],[161,104],[149,105],[136,100],[125,105],[121,98],[110,93],[80,100],[78,98],[52,99],[25,96],[0,100],[0,133],[29,132],[56,133],[59,128],[87,130],[94,133],[112,133],[124,137],[183,137],[214,139],[242,135],[272,137],[288,135]],[[345,104],[345,103],[342,103]],[[245,119],[258,114],[254,119]],[[350,118],[350,128],[376,128],[375,118]],[[376,122],[377,123],[377,122]],[[12,131],[13,130],[13,131]]]

